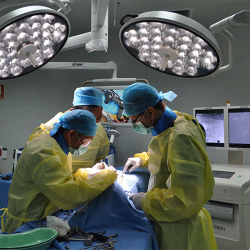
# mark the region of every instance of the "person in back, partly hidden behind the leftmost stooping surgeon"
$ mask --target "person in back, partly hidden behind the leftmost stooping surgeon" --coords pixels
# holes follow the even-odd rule
[[[88,151],[81,156],[72,156],[69,154],[69,162],[72,161],[72,167],[74,171],[79,168],[92,167],[94,164],[105,160],[105,157],[109,153],[110,142],[107,134],[100,124],[102,118],[102,92],[92,87],[80,87],[74,92],[73,108],[88,110],[95,115],[96,122],[98,124],[96,135],[92,140]],[[71,110],[72,110],[71,109]],[[45,130],[51,130],[53,124],[58,122],[58,118],[63,113],[58,113],[54,118],[45,124],[41,124]]]

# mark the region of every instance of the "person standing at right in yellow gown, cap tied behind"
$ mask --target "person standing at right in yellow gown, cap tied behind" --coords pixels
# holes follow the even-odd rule
[[[123,172],[148,167],[148,192],[130,196],[155,226],[161,250],[217,249],[210,214],[203,207],[211,199],[214,177],[206,152],[205,132],[189,114],[172,111],[163,94],[144,83],[124,90],[125,112],[134,130],[152,133],[148,152],[129,158]]]

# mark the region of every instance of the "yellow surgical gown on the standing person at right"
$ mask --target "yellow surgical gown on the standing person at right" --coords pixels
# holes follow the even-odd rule
[[[211,217],[203,208],[214,187],[205,133],[191,115],[176,113],[174,127],[154,136],[148,152],[135,155],[151,172],[142,207],[161,250],[214,250]]]

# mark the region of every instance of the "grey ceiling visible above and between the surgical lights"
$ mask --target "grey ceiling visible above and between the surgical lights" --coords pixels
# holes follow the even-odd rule
[[[67,14],[71,24],[70,36],[90,31],[91,0],[71,0],[72,11]],[[44,0],[1,0],[1,16],[11,10],[31,5],[42,5],[59,9],[56,4]],[[206,28],[241,10],[250,10],[249,0],[110,0],[109,35],[118,35],[120,20],[126,14],[140,14],[147,11],[190,10],[190,17]],[[127,21],[128,19],[125,19]]]

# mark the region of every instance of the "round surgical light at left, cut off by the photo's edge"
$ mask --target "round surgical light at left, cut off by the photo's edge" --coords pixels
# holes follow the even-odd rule
[[[53,9],[30,6],[0,18],[0,80],[26,75],[49,62],[64,46],[67,18]]]

